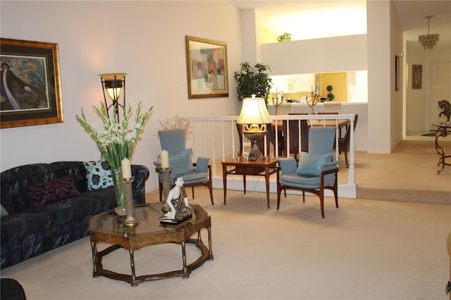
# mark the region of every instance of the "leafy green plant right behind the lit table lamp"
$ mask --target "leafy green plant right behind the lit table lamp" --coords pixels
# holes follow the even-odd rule
[[[233,76],[237,81],[238,101],[242,101],[252,94],[265,99],[268,104],[268,97],[271,94],[272,80],[267,71],[271,71],[268,65],[257,63],[252,66],[250,63],[241,63],[240,70],[235,71]]]

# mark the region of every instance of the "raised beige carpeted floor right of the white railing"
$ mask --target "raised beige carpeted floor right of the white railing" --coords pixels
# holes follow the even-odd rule
[[[449,149],[451,155],[451,142],[440,146]],[[357,152],[357,197],[451,204],[451,166],[437,175],[441,169],[438,158],[433,141],[402,141],[393,154]],[[450,158],[447,163],[451,163]],[[340,168],[340,172],[343,170]]]

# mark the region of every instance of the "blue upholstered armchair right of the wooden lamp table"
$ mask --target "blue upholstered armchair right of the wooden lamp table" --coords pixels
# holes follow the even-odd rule
[[[309,152],[299,153],[299,163],[295,158],[279,158],[277,172],[277,209],[280,206],[282,190],[287,196],[287,189],[302,191],[319,196],[321,215],[324,218],[324,189],[331,189],[338,208],[338,161],[333,155],[335,127],[310,127]]]

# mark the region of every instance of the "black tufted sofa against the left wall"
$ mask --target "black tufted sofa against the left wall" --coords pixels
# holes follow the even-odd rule
[[[86,173],[82,161],[22,165],[1,173],[2,212],[6,210],[8,215],[0,219],[0,269],[87,236],[89,218],[116,207],[113,187],[88,190]],[[30,186],[58,182],[68,176],[72,178],[72,187],[78,190],[73,192],[78,195],[39,206],[30,202],[26,192]],[[135,204],[143,204],[149,169],[132,165],[132,176],[133,199]],[[67,190],[65,187],[61,195]]]

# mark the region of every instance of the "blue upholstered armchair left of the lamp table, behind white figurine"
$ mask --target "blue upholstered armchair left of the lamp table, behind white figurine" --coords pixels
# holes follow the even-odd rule
[[[194,187],[204,186],[209,188],[211,204],[213,201],[213,185],[211,183],[211,165],[209,158],[199,156],[195,163],[192,163],[192,149],[186,149],[185,130],[161,130],[158,132],[161,149],[169,153],[169,166],[171,167],[171,187],[174,186],[176,176],[182,176],[185,187],[192,188],[192,198],[194,199]],[[163,175],[159,169],[160,161],[154,161],[156,172],[159,173],[160,201],[163,196]],[[165,199],[166,200],[166,199]]]

